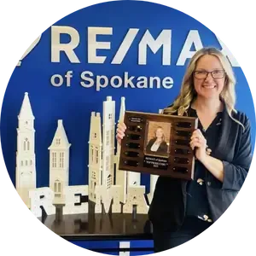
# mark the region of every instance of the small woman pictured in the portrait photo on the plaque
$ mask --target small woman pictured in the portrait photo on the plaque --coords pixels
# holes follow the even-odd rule
[[[165,140],[163,128],[158,126],[154,132],[154,138],[150,139],[146,147],[147,154],[167,154],[168,145]]]

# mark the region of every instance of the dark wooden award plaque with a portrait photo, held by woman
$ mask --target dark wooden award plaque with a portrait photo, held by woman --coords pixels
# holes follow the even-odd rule
[[[191,180],[195,154],[189,142],[198,119],[125,111],[119,170]]]

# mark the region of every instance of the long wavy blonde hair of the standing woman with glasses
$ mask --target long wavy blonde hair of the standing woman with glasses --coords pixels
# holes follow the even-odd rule
[[[222,101],[225,102],[227,112],[231,119],[236,121],[239,125],[241,125],[244,129],[244,126],[236,119],[232,117],[232,112],[237,113],[235,109],[236,104],[236,78],[233,72],[233,69],[230,65],[228,59],[216,48],[214,47],[205,47],[198,50],[195,55],[189,61],[189,66],[187,67],[187,71],[183,76],[182,86],[179,95],[177,96],[176,100],[173,104],[168,107],[164,108],[163,113],[172,114],[177,113],[177,115],[188,115],[188,109],[191,103],[194,101],[196,92],[194,88],[193,82],[193,73],[195,71],[195,67],[199,59],[203,55],[214,55],[218,57],[218,60],[222,64],[222,67],[225,71],[225,84],[224,89],[220,93],[220,97]]]

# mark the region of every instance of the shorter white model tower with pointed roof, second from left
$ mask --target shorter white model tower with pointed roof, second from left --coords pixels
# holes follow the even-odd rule
[[[49,146],[49,188],[55,193],[54,203],[63,204],[64,187],[69,184],[69,148],[67,134],[63,126],[63,121],[58,120],[55,136]]]

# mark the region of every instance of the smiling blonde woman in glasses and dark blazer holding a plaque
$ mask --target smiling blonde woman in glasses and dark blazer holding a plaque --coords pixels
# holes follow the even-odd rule
[[[222,218],[236,201],[253,163],[251,126],[236,111],[235,76],[215,48],[198,50],[189,62],[181,91],[163,113],[197,117],[192,134],[195,179],[159,177],[148,217],[154,228],[154,252],[183,246]],[[125,133],[119,124],[117,139]]]

